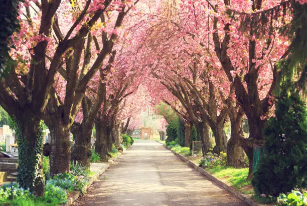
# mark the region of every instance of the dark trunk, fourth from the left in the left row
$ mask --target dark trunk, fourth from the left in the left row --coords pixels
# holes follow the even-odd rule
[[[96,127],[96,141],[95,141],[95,152],[100,154],[101,161],[108,161],[108,143],[107,136],[108,128],[102,121],[95,123]]]

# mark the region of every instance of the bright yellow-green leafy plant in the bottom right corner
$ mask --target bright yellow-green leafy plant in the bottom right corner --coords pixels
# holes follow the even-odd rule
[[[277,197],[277,206],[307,205],[307,192],[291,190],[287,195],[280,193]]]

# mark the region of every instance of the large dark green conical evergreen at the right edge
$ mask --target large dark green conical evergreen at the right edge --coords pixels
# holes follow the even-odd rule
[[[263,129],[264,146],[252,184],[257,195],[277,196],[307,181],[307,111],[299,94],[282,93]]]

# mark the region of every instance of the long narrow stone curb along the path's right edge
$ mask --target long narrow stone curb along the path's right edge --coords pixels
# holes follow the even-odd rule
[[[156,140],[157,142],[163,144],[162,142]],[[165,144],[163,144],[167,149],[171,150],[176,156],[178,156],[182,161],[186,162],[187,164],[189,164],[190,166],[192,166],[193,168],[195,168],[197,171],[201,172],[202,174],[204,174],[206,177],[208,177],[210,180],[214,181],[216,184],[218,184],[219,186],[222,186],[224,189],[226,189],[227,191],[233,193],[235,196],[237,196],[239,199],[241,199],[242,201],[245,201],[246,203],[248,203],[249,205],[252,206],[264,206],[265,204],[261,204],[258,202],[255,202],[252,200],[252,198],[249,195],[246,194],[242,194],[240,192],[238,192],[235,188],[231,187],[230,185],[226,184],[224,181],[220,180],[219,178],[217,178],[216,176],[214,176],[213,174],[209,173],[208,171],[206,171],[203,167],[200,167],[199,165],[197,165],[195,162],[189,160],[187,157],[176,153],[175,151],[173,151],[172,149],[170,149],[169,147],[167,147]]]

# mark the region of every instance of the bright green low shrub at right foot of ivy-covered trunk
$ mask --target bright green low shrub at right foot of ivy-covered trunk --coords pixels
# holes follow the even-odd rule
[[[45,185],[45,196],[39,198],[51,205],[64,204],[67,202],[67,192],[59,186],[47,183]]]

